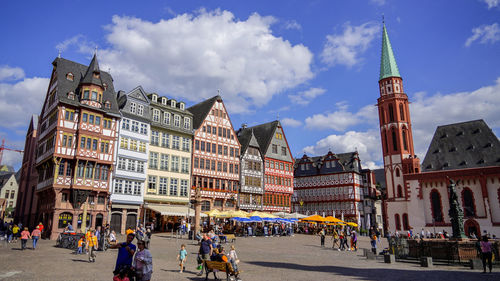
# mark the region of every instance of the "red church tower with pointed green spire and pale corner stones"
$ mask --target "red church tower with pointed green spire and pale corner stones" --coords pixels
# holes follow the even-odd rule
[[[413,149],[410,108],[404,93],[403,78],[394,58],[387,29],[382,32],[382,58],[379,78],[380,97],[377,100],[387,201],[406,201],[409,194],[404,184],[405,174],[420,172],[420,160]]]

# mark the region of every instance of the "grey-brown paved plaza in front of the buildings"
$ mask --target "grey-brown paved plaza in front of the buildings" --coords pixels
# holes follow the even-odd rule
[[[31,241],[30,241],[31,242]],[[331,247],[331,239],[327,238]],[[179,273],[176,256],[182,243],[187,245],[186,271]],[[319,237],[237,238],[234,245],[241,260],[242,280],[500,280],[500,273],[481,274],[463,266],[421,268],[415,263],[385,264],[383,259],[366,260],[362,251],[338,252],[321,248]],[[28,243],[30,245],[30,243]],[[39,249],[20,251],[20,243],[0,246],[0,280],[111,280],[116,250],[98,252],[97,262],[86,255],[54,247],[43,240]],[[230,244],[227,244],[227,247]],[[366,237],[360,248],[368,248]],[[151,242],[154,273],[152,280],[204,280],[196,276],[198,247],[192,241],[155,234]],[[498,270],[498,269],[494,269]],[[225,274],[219,273],[219,278]],[[210,275],[213,278],[213,275]],[[213,279],[212,279],[213,280]]]

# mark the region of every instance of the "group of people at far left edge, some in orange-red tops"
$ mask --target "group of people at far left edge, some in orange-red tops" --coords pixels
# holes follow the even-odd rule
[[[42,237],[42,232],[44,229],[43,224],[40,222],[31,232],[28,227],[23,227],[22,223],[2,223],[0,227],[4,233],[4,239],[7,243],[17,243],[21,240],[21,250],[27,249],[28,240],[31,239],[33,242],[32,250],[36,249],[38,240]]]

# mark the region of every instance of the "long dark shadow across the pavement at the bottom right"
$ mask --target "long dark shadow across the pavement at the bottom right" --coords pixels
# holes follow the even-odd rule
[[[479,271],[452,271],[452,270],[436,270],[436,269],[393,269],[393,268],[362,268],[360,267],[340,267],[340,266],[325,266],[325,265],[304,265],[296,263],[284,262],[259,262],[247,261],[245,263],[271,267],[294,269],[300,271],[325,272],[333,273],[340,276],[358,277],[360,280],[500,280],[500,273],[493,272],[491,274],[481,274]],[[338,277],[340,277],[338,276]],[[333,278],[333,277],[332,277]]]

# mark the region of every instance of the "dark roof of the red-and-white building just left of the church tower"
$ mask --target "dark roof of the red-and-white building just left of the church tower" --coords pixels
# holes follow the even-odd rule
[[[325,162],[332,161],[330,167],[326,167]],[[301,170],[300,164],[311,164],[311,169]],[[356,151],[334,154],[329,151],[323,156],[309,157],[306,154],[302,158],[295,159],[294,176],[315,176],[343,172],[361,172],[361,163]]]

